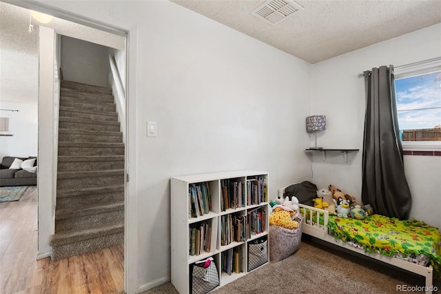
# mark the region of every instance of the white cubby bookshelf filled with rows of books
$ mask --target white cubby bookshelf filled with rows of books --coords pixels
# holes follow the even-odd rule
[[[172,284],[179,293],[189,293],[189,281],[192,274],[189,269],[190,265],[208,257],[213,257],[216,263],[219,286],[228,284],[249,272],[247,266],[249,262],[248,243],[267,236],[269,232],[268,180],[267,172],[255,170],[172,177],[170,184],[171,268]],[[208,196],[207,190],[209,190],[209,197],[206,199],[211,199],[209,211],[200,211],[198,215],[195,211],[197,208],[192,204],[192,191],[190,190],[190,187],[197,189],[197,186],[201,187],[201,195]],[[225,186],[230,188],[228,193],[231,197],[229,199],[225,198],[225,192],[228,190]],[[257,187],[254,188],[254,186]],[[252,189],[254,190],[252,191]],[[196,197],[196,195],[194,196]],[[229,201],[230,199],[232,202]],[[228,207],[226,207],[225,201],[228,202]],[[253,224],[251,220],[254,220]],[[234,226],[234,228],[227,230],[225,228],[228,227],[226,226],[228,222],[242,224],[242,226],[238,225],[242,229]],[[201,252],[197,255],[196,245],[194,245],[197,242],[196,238],[192,238],[192,235],[203,234],[206,237],[207,233],[201,229],[201,226],[204,230],[211,228],[211,234],[199,246]],[[200,229],[197,230],[197,228]],[[228,238],[228,232],[230,238]],[[234,234],[236,234],[236,239]],[[266,238],[268,239],[268,237]],[[195,242],[192,242],[192,239],[195,239]],[[266,244],[269,246],[269,242]],[[192,252],[192,248],[195,248],[194,252]],[[208,250],[209,252],[207,252]],[[234,259],[238,260],[231,267],[231,273],[223,271],[223,259],[229,256],[234,256]],[[269,248],[267,248],[266,258],[268,261]],[[240,265],[242,266],[241,271],[237,270]],[[236,272],[234,271],[235,266]]]

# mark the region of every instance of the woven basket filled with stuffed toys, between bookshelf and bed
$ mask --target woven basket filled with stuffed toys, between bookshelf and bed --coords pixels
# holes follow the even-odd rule
[[[302,217],[296,219],[298,228],[269,226],[269,261],[278,262],[298,251],[302,241]]]

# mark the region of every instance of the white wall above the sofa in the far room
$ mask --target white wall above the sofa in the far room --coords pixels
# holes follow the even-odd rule
[[[11,119],[12,137],[0,136],[0,160],[4,156],[28,157],[37,156],[38,143],[38,105],[37,97],[34,104],[0,102],[1,109],[19,110],[1,111]]]

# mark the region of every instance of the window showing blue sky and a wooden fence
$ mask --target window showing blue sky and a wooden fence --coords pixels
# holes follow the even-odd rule
[[[441,58],[395,70],[403,148],[441,148]]]

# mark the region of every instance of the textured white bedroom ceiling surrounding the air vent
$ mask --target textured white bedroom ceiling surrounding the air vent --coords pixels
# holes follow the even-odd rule
[[[309,63],[441,23],[440,0],[298,0],[274,25],[250,14],[262,0],[171,1]]]

